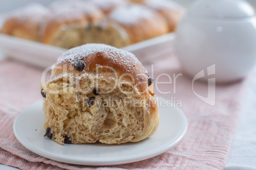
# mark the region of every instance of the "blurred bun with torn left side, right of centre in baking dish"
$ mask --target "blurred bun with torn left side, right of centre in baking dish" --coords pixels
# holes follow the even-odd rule
[[[107,20],[85,30],[83,44],[104,43],[122,48],[168,32],[167,22],[156,11],[129,4],[111,11]]]

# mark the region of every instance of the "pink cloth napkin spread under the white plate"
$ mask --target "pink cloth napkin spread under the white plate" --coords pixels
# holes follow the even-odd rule
[[[152,65],[145,65],[151,73]],[[216,86],[214,106],[200,100],[192,90],[192,79],[184,74],[172,84],[159,84],[161,95],[183,110],[188,120],[187,134],[167,152],[131,164],[117,166],[75,166],[56,162],[24,148],[13,134],[13,121],[18,113],[39,100],[42,70],[11,60],[0,62],[0,163],[20,169],[223,169],[229,155],[246,89],[246,81]],[[169,75],[181,73],[174,55],[162,56],[155,61],[153,76],[168,81]],[[176,91],[175,91],[176,90]],[[206,96],[208,84],[194,82],[194,91]],[[180,105],[180,103],[182,105]],[[32,121],[32,120],[31,120]],[[42,137],[43,140],[43,137]]]

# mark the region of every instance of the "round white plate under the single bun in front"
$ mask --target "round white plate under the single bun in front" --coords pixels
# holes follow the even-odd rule
[[[159,101],[163,100],[159,98]],[[25,148],[48,159],[69,164],[103,166],[125,164],[148,159],[174,147],[187,131],[187,119],[176,107],[159,107],[159,128],[150,138],[121,145],[66,144],[59,145],[44,138],[43,102],[37,101],[15,119],[13,131]]]

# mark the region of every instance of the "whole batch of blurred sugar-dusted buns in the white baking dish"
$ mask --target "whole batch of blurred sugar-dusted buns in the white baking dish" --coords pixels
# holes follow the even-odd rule
[[[165,0],[62,0],[18,10],[1,32],[68,49],[87,43],[122,48],[173,32],[182,11]]]

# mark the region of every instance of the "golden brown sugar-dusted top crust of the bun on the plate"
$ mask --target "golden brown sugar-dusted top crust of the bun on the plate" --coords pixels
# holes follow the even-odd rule
[[[74,55],[74,52],[71,51],[79,51],[76,54],[77,57],[72,58],[72,60],[68,56],[69,53]],[[148,93],[148,75],[146,75],[145,67],[132,53],[104,44],[86,44],[73,48],[71,51],[60,56],[55,66],[57,69],[53,70],[52,77],[58,77],[63,74],[63,70],[66,70],[65,73],[67,74],[82,75],[85,72],[88,74],[96,72],[96,69],[100,67],[103,67],[101,71],[107,72],[109,71],[108,68],[111,67],[111,69],[117,72],[118,77],[125,75],[125,79],[133,79],[134,86],[138,88],[139,92],[145,92],[144,95]],[[82,72],[74,68],[74,63],[78,58],[83,60],[86,65]]]

